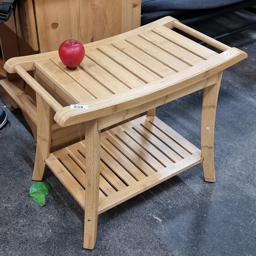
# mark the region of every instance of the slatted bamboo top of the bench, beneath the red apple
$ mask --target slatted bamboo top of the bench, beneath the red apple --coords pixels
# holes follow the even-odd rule
[[[216,52],[160,26],[87,50],[75,71],[68,70],[59,57],[36,60],[34,65],[37,76],[47,80],[48,90],[58,95],[62,105],[69,105],[129,91],[215,55]]]

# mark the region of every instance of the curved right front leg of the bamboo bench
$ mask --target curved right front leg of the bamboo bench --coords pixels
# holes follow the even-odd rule
[[[204,180],[215,182],[214,168],[214,128],[218,94],[222,72],[216,84],[206,87],[203,93],[201,118],[201,154],[203,160]]]

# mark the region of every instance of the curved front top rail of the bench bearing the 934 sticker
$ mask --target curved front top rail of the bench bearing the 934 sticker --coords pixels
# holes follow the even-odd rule
[[[182,90],[196,81],[203,80],[232,66],[233,63],[244,59],[246,56],[246,53],[236,48],[231,48],[228,50],[228,56],[225,53],[220,53],[218,56],[200,61],[195,66],[176,73],[171,77],[162,78],[159,81],[140,86],[128,92],[85,102],[89,105],[89,110],[87,111],[74,112],[67,107],[63,108],[55,114],[54,119],[60,126],[69,126],[130,109],[144,102],[153,101]]]

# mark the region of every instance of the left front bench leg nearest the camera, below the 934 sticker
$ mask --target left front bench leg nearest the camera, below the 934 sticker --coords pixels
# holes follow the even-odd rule
[[[99,203],[100,131],[98,120],[86,122],[86,203],[84,208],[83,247],[96,243]]]

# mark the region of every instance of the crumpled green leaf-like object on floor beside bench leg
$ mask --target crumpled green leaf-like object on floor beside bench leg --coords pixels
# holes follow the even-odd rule
[[[32,198],[40,207],[46,205],[46,196],[51,190],[51,185],[46,182],[36,182],[29,190],[29,197]]]

